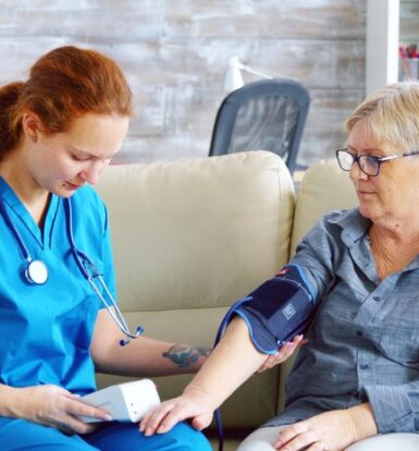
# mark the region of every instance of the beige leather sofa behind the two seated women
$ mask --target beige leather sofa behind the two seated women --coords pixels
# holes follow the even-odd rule
[[[114,166],[98,191],[110,211],[119,302],[130,324],[201,346],[211,346],[226,308],[273,277],[323,212],[356,205],[334,160],[309,169],[295,196],[285,164],[266,151]],[[252,377],[225,402],[226,450],[282,407],[286,370]],[[159,378],[162,399],[188,379]],[[100,386],[122,380],[98,375]]]

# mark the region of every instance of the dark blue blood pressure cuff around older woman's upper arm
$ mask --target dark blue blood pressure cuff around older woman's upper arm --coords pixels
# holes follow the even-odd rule
[[[301,269],[287,265],[273,279],[236,302],[220,329],[225,329],[233,316],[238,315],[245,320],[255,346],[262,353],[275,354],[284,343],[307,329],[315,305],[313,290]]]

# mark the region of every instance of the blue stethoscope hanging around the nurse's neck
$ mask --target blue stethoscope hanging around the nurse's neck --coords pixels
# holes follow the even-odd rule
[[[138,338],[143,332],[144,328],[141,326],[137,327],[135,333],[132,333],[125,318],[123,317],[120,307],[118,306],[115,300],[112,296],[108,285],[106,284],[101,273],[99,272],[96,265],[91,261],[91,259],[83,252],[79,251],[74,242],[73,237],[73,212],[72,212],[72,205],[70,198],[64,198],[64,209],[65,209],[65,227],[66,233],[69,237],[71,253],[73,258],[81,270],[83,277],[89,282],[91,289],[94,290],[95,294],[99,297],[101,303],[107,308],[109,315],[112,317],[116,326],[120,328],[121,332],[125,336],[125,339],[120,340],[120,345],[124,346],[125,344],[130,343],[132,339]],[[28,248],[26,247],[24,241],[22,240],[21,234],[19,233],[17,229],[14,227],[12,220],[10,219],[9,214],[7,212],[3,202],[0,200],[0,212],[4,218],[5,223],[8,224],[10,231],[13,233],[19,247],[22,251],[22,254],[27,261],[26,268],[24,270],[25,280],[29,284],[35,285],[42,285],[48,281],[48,268],[47,265],[39,259],[33,259]],[[96,282],[98,281],[98,283]],[[103,296],[100,289],[103,290],[107,298]],[[113,309],[112,309],[113,307]]]

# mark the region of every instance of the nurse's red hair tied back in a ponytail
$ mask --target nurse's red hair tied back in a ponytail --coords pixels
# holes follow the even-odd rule
[[[22,134],[22,117],[33,111],[45,133],[65,132],[84,113],[133,114],[128,84],[118,64],[94,50],[60,47],[41,57],[29,80],[0,88],[0,158]]]

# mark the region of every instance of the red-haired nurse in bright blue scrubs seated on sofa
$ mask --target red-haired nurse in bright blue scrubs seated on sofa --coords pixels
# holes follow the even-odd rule
[[[121,149],[132,114],[120,68],[93,50],[54,49],[26,82],[0,87],[2,451],[211,449],[186,424],[147,438],[138,425],[120,425],[77,399],[95,390],[95,369],[136,377],[193,373],[206,357],[202,351],[197,362],[180,362],[175,354],[187,355],[187,346],[148,338],[121,346],[124,334],[71,252],[66,199],[74,242],[114,293],[107,209],[89,185]]]

